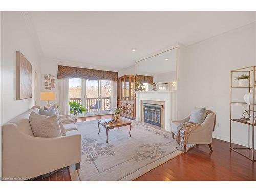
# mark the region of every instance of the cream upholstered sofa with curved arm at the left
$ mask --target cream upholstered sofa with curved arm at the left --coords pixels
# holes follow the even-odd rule
[[[74,123],[66,124],[66,136],[35,137],[29,115],[31,109],[2,126],[3,180],[26,180],[81,162],[81,135]],[[66,118],[67,116],[60,116]]]

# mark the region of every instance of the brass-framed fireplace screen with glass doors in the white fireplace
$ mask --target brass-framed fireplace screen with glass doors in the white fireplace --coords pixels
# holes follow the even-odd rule
[[[144,122],[161,127],[161,108],[162,105],[144,105]]]

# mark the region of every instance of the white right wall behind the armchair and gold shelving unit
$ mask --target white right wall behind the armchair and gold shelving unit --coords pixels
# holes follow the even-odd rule
[[[255,65],[255,23],[191,45],[184,65],[178,66],[178,117],[194,106],[206,106],[217,115],[214,137],[229,141],[230,70]],[[243,91],[240,101],[243,101]],[[243,107],[234,116],[241,118]],[[233,123],[235,143],[247,145],[247,126]]]

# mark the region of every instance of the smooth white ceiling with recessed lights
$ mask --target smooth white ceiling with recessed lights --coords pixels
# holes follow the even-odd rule
[[[29,12],[43,56],[126,68],[254,22],[254,12]],[[136,48],[136,52],[131,49]]]

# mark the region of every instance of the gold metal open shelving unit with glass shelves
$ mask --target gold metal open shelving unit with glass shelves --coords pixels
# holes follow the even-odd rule
[[[256,126],[255,121],[252,123],[242,121],[241,119],[232,119],[232,105],[233,104],[242,104],[242,105],[248,105],[248,110],[253,110],[252,116],[255,117],[254,111],[255,111],[255,67],[256,66],[250,66],[250,67],[245,67],[245,68],[240,68],[236,70],[231,70],[230,71],[230,142],[229,142],[229,147],[231,150],[239,153],[240,155],[246,157],[247,159],[250,159],[251,161],[256,161],[254,159],[254,127]],[[249,85],[248,86],[232,86],[232,80],[233,80],[233,73],[237,72],[245,72],[248,73],[249,75]],[[252,85],[251,85],[251,77],[252,77]],[[253,103],[252,104],[247,104],[246,102],[232,102],[232,89],[238,89],[238,88],[247,88],[248,91],[250,92],[252,89],[253,93]],[[232,121],[238,122],[238,123],[243,123],[248,125],[248,147],[232,147],[232,141],[231,141],[231,136],[232,136]],[[252,147],[250,147],[250,128],[252,129]],[[237,150],[248,150],[248,155],[245,155]]]

